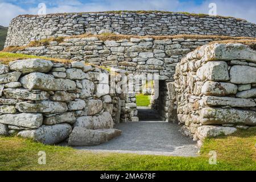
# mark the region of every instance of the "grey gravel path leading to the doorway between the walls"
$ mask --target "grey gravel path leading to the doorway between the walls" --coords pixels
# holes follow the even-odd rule
[[[184,137],[175,123],[141,121],[119,123],[122,135],[99,146],[74,147],[94,152],[120,152],[147,155],[197,156],[196,142]]]

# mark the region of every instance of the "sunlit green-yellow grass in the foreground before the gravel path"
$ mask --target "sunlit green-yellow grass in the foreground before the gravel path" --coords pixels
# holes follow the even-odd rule
[[[45,146],[30,139],[0,138],[0,170],[256,170],[256,128],[229,137],[205,140],[195,158],[77,151],[71,147]],[[217,152],[210,165],[209,151]],[[46,152],[46,165],[38,152]]]

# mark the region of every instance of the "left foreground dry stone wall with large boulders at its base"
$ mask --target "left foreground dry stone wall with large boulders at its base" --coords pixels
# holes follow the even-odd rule
[[[120,135],[113,126],[126,96],[99,92],[100,73],[109,76],[105,69],[76,61],[0,64],[0,135],[18,133],[46,144],[68,139],[71,146],[100,144]]]

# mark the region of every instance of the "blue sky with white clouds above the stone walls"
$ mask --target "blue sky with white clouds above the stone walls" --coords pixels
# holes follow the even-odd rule
[[[20,14],[38,14],[39,3],[46,4],[46,13],[70,13],[108,10],[164,10],[209,12],[209,3],[216,3],[217,14],[243,18],[256,23],[255,0],[0,0],[0,24],[9,26]]]

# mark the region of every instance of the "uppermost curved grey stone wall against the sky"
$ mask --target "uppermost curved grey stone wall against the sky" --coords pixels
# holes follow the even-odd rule
[[[235,18],[179,13],[74,13],[21,15],[11,20],[5,43],[24,46],[32,40],[85,33],[123,35],[229,35],[256,37],[256,25]]]

